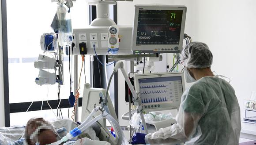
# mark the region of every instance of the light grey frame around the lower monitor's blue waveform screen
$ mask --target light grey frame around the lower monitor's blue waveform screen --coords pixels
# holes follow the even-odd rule
[[[184,82],[184,73],[182,72],[166,72],[166,73],[150,73],[150,74],[135,74],[134,76],[134,87],[136,90],[136,93],[139,93],[140,88],[139,88],[139,79],[144,79],[144,78],[160,78],[160,77],[172,77],[172,76],[181,76],[181,85],[182,85],[182,93],[185,91],[185,82]],[[179,101],[177,102],[154,102],[154,103],[147,103],[147,105],[158,105],[161,104],[163,108],[158,108],[158,109],[148,109],[148,108],[143,108],[145,112],[150,112],[150,111],[162,111],[162,110],[172,110],[172,109],[179,109],[180,104],[181,104],[181,97],[179,98]],[[143,104],[144,105],[144,104]]]

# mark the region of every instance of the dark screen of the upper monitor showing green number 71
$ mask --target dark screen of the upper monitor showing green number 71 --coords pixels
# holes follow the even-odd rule
[[[136,45],[178,45],[182,14],[182,10],[139,10]]]

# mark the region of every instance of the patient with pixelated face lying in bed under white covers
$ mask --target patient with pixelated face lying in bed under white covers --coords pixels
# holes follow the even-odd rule
[[[25,128],[25,140],[28,145],[47,145],[60,140],[70,130],[78,127],[79,123],[72,120],[61,119],[51,123],[41,117],[31,118]],[[91,139],[99,141],[92,127],[88,127],[79,136],[72,138],[71,141],[65,142],[63,145],[73,145],[79,139]],[[26,145],[25,143],[23,145]]]

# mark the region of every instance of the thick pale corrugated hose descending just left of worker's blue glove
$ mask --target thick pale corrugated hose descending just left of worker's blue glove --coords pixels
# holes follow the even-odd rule
[[[107,113],[107,112],[105,112],[105,113]],[[128,145],[128,141],[125,138],[124,133],[123,133],[119,123],[117,122],[117,120],[115,120],[113,118],[113,116],[111,116],[111,115],[107,115],[106,118],[107,118],[107,120],[109,120],[109,123],[113,127],[115,134],[117,135],[117,138],[120,139],[120,142],[122,143],[122,145]]]

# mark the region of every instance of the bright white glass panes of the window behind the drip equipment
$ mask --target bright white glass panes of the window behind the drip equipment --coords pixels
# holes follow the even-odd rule
[[[84,28],[89,25],[89,7],[85,0],[77,0],[71,8],[72,28]],[[35,83],[39,69],[34,68],[34,61],[38,59],[39,54],[43,54],[40,47],[40,36],[43,33],[51,33],[53,30],[50,25],[56,13],[57,4],[51,0],[25,0],[16,1],[15,4],[6,0],[7,10],[7,36],[8,36],[8,79],[9,79],[9,103],[10,109],[28,108],[32,101],[32,108],[43,108],[47,103],[46,99],[56,101],[58,85],[42,85]],[[51,54],[45,54],[50,57]],[[81,69],[82,59],[78,57],[78,69]],[[90,83],[90,56],[85,59],[87,83]],[[74,65],[73,69],[74,69]],[[80,71],[79,71],[80,72]],[[69,93],[69,69],[68,56],[64,54],[64,85],[60,88],[60,98],[67,101]],[[73,71],[72,71],[72,74]],[[80,97],[83,94],[83,85],[85,79],[82,74],[80,83]],[[74,90],[74,88],[72,87]],[[75,94],[75,93],[74,93]],[[40,105],[38,105],[38,101]],[[28,103],[29,102],[29,103]],[[55,103],[57,104],[57,103]],[[62,103],[61,103],[62,104]],[[35,106],[38,105],[38,106]],[[34,106],[34,107],[33,107]],[[61,106],[61,105],[60,105]],[[26,110],[25,109],[25,110]],[[81,107],[79,107],[81,109]],[[25,125],[27,120],[33,116],[43,116],[45,119],[56,119],[51,110],[43,111],[25,111],[17,110],[10,113],[10,125]],[[63,118],[68,118],[68,108],[61,109]],[[56,114],[56,107],[53,107]],[[69,110],[69,116],[72,116],[73,108]],[[13,112],[13,113],[12,113]],[[79,111],[81,113],[81,111]],[[81,115],[79,115],[81,118]],[[19,121],[17,121],[19,120]]]

